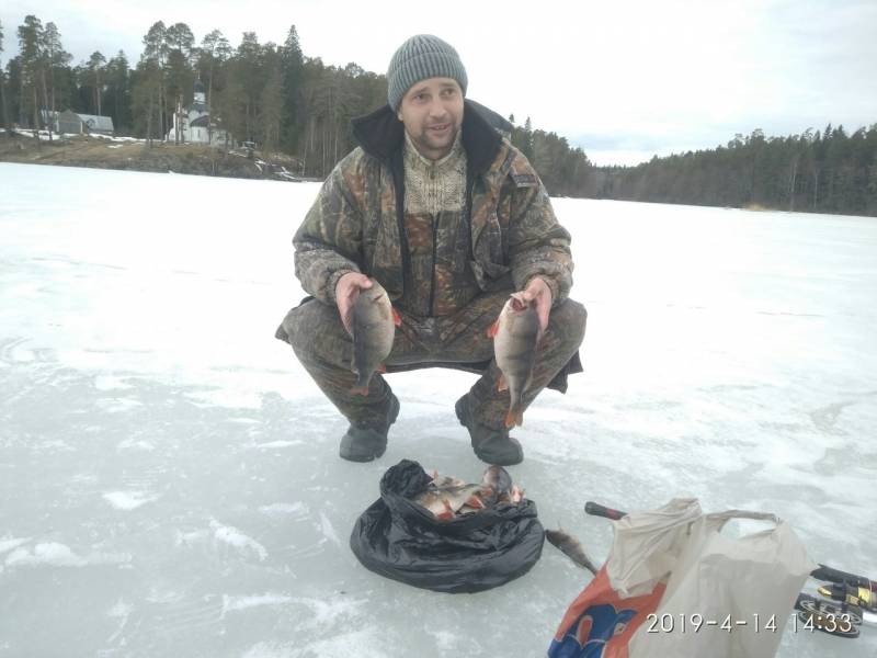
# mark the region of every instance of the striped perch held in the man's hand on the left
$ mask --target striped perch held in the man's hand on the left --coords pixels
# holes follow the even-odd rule
[[[384,372],[384,361],[392,350],[392,338],[400,324],[387,291],[374,279],[371,281],[372,287],[360,292],[350,311],[349,326],[353,334],[351,370],[357,375],[351,393],[358,395],[368,395],[372,375]]]

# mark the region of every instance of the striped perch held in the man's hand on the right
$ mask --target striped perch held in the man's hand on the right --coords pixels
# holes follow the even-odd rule
[[[524,392],[533,378],[536,348],[542,339],[535,302],[526,303],[521,293],[512,294],[488,336],[493,338],[493,354],[502,371],[498,388],[509,390],[505,427],[520,426],[524,422]]]

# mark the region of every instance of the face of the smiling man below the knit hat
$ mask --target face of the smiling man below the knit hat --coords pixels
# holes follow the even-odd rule
[[[421,155],[438,160],[463,125],[463,90],[452,78],[421,80],[402,97],[398,116]]]

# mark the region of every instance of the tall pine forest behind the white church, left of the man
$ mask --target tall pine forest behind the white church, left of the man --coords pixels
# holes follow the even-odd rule
[[[354,146],[350,118],[386,102],[387,81],[356,64],[327,66],[301,53],[291,26],[283,44],[261,44],[244,32],[234,47],[218,30],[201,42],[185,23],[153,23],[132,64],[94,52],[72,65],[55,23],[27,15],[16,31],[19,54],[0,69],[3,122],[8,129],[47,128],[41,110],[70,109],[113,118],[119,134],[163,139],[178,106],[193,101],[194,82],[218,127],[269,154],[297,156],[305,171],[327,174]],[[0,53],[3,31],[0,25]]]

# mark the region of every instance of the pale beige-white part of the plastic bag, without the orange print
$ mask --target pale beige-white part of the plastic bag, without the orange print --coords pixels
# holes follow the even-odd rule
[[[770,527],[734,537],[731,519]],[[771,513],[703,514],[695,499],[634,512],[615,522],[606,563],[624,597],[665,583],[658,608],[630,638],[630,658],[770,658],[797,594],[816,567],[791,527]]]

